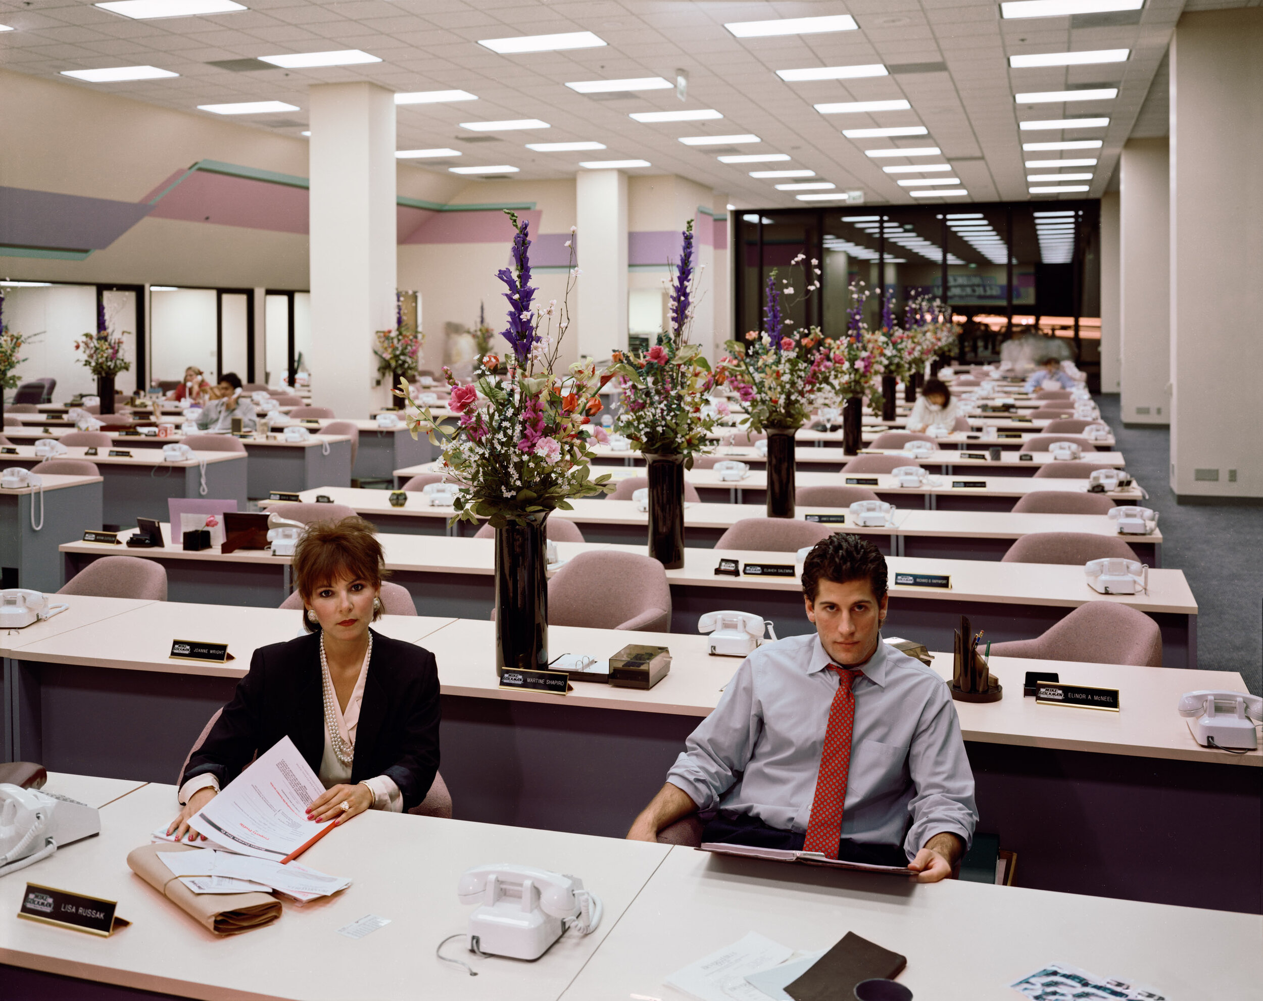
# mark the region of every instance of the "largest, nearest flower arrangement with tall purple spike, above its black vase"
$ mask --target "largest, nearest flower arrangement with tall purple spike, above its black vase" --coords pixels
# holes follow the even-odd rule
[[[591,362],[571,365],[562,375],[554,372],[570,326],[570,292],[578,276],[573,249],[562,302],[534,305],[528,221],[509,210],[505,213],[517,235],[513,266],[496,273],[509,303],[508,326],[500,332],[510,348],[504,381],[494,375],[500,358],[490,352],[479,358],[474,385],[458,384],[445,366],[451,386],[448,406],[460,414],[456,428],[437,423],[429,408],[413,399],[405,381],[395,389],[395,395],[410,404],[405,420],[413,437],[426,432],[442,446],[443,468],[460,486],[456,519],[488,519],[498,529],[557,509],[571,510],[568,501],[575,497],[614,490],[608,473],[591,478],[586,433],[590,415],[601,409],[596,394],[613,374],[597,375]]]

